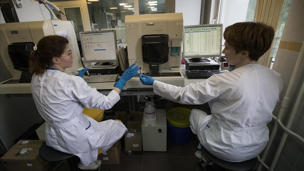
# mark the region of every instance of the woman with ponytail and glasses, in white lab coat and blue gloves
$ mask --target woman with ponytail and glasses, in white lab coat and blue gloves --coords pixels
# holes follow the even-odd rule
[[[127,128],[119,121],[97,122],[82,113],[84,107],[110,109],[120,99],[119,93],[126,81],[137,74],[135,63],[126,69],[107,95],[90,87],[82,76],[64,73],[72,67],[73,58],[68,40],[62,36],[46,36],[32,51],[29,67],[33,74],[31,92],[37,110],[46,122],[48,146],[80,158],[80,169],[95,170],[101,161],[97,150],[108,150],[119,140]]]

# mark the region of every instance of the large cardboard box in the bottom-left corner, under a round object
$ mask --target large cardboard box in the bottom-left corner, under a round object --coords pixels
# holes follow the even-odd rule
[[[50,163],[41,159],[39,148],[44,140],[20,140],[1,157],[8,171],[46,171]],[[21,148],[33,148],[26,155],[18,155]]]

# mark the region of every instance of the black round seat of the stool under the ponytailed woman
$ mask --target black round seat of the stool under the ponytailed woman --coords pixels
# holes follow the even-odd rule
[[[52,147],[47,146],[45,141],[40,146],[39,155],[43,160],[46,160],[48,162],[67,160],[74,156],[74,154],[60,152]]]

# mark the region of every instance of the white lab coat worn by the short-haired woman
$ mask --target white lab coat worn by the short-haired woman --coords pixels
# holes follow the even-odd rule
[[[154,93],[166,99],[183,104],[208,102],[212,115],[192,110],[191,130],[210,153],[232,162],[252,159],[265,148],[267,123],[282,88],[281,75],[259,64],[243,65],[185,87],[153,83]]]

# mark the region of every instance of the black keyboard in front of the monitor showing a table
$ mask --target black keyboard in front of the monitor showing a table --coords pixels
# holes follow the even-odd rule
[[[220,74],[226,71],[220,70],[191,70],[186,71],[188,79],[208,79],[214,74]]]

